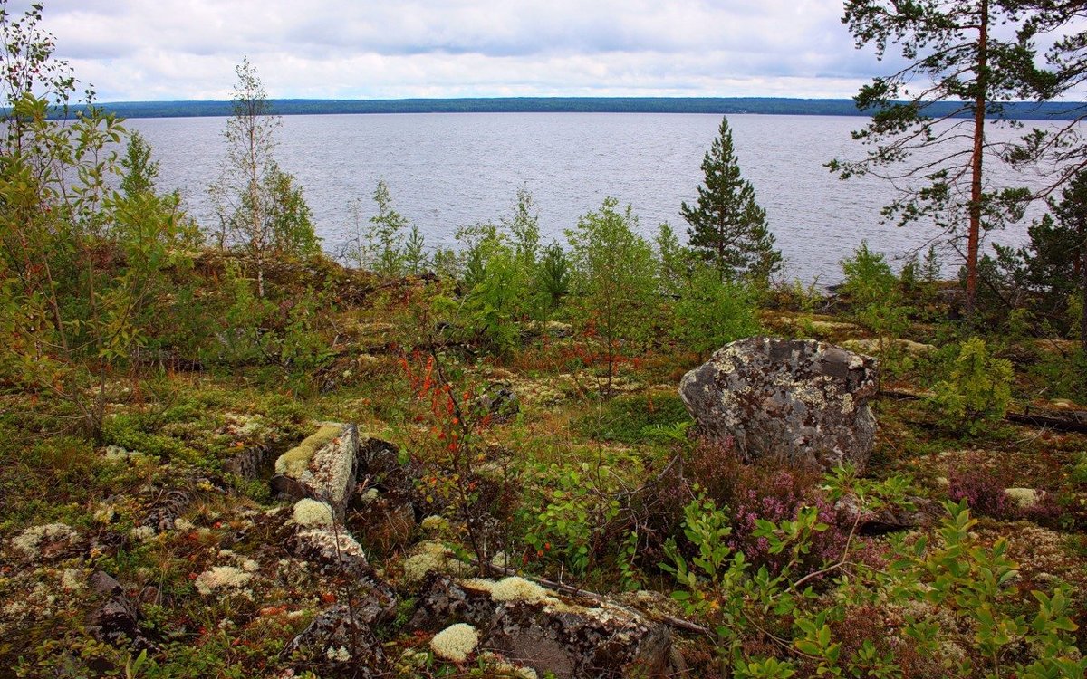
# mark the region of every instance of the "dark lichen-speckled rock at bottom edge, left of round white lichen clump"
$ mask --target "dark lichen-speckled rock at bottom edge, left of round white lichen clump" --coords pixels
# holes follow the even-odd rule
[[[310,626],[284,646],[280,657],[327,666],[343,666],[352,677],[379,677],[386,672],[385,651],[374,637],[373,606],[337,605],[313,618]],[[351,614],[353,615],[353,619]],[[322,672],[324,675],[324,672]],[[333,672],[334,675],[337,672]]]

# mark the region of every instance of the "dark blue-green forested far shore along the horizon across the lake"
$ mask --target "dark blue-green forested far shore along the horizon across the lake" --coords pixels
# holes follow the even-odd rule
[[[382,113],[709,113],[769,115],[867,115],[852,99],[776,97],[505,97],[473,99],[272,99],[278,115]],[[99,104],[126,118],[232,115],[229,101],[127,101]],[[960,104],[937,102],[932,115]],[[1087,114],[1084,102],[1011,102],[1008,117],[1069,121]]]

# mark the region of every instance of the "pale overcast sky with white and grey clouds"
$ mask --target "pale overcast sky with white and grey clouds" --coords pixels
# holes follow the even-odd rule
[[[838,98],[888,68],[838,0],[45,3],[100,101],[228,99],[245,55],[273,98]]]

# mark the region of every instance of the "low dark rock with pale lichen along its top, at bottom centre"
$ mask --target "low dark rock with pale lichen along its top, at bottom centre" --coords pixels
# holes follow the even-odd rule
[[[491,582],[435,575],[417,603],[414,628],[471,625],[480,650],[540,676],[664,677],[675,670],[666,626],[612,603],[584,606],[521,578]]]

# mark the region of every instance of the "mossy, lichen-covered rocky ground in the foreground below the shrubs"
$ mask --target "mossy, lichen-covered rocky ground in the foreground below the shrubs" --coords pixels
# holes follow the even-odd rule
[[[946,430],[914,398],[928,388],[922,367],[941,360],[923,327],[888,347],[840,317],[763,320],[779,337],[892,351],[883,395],[874,381],[851,391],[871,406],[874,436],[858,415],[846,447],[867,449],[852,462],[871,479],[908,476],[916,501],[865,514],[871,529],[855,539],[873,563],[891,537],[934,535],[939,502],[965,496],[976,544],[1007,542],[1023,609],[1029,591],[1065,583],[1082,628],[1082,430]],[[719,676],[712,615],[673,601],[680,588],[659,566],[692,481],[753,474],[697,452],[677,392],[697,361],[648,352],[621,366],[620,395],[602,400],[599,366],[572,360],[584,347],[562,324],[535,329],[512,360],[464,362],[440,378],[426,354],[395,349],[387,315],[352,312],[341,328],[349,340],[323,393],[177,373],[139,389],[112,383],[101,443],[29,416],[4,420],[0,675]],[[1037,393],[1044,377],[1029,367],[1060,350],[1005,349],[1021,394]],[[1072,425],[1085,410],[1064,398],[1029,405]],[[18,406],[8,397],[3,410]],[[800,466],[790,479],[819,478]],[[844,507],[834,515],[848,525]],[[745,647],[772,652],[777,633],[763,631]],[[947,654],[970,653],[969,641],[954,646],[963,634],[948,632]]]

